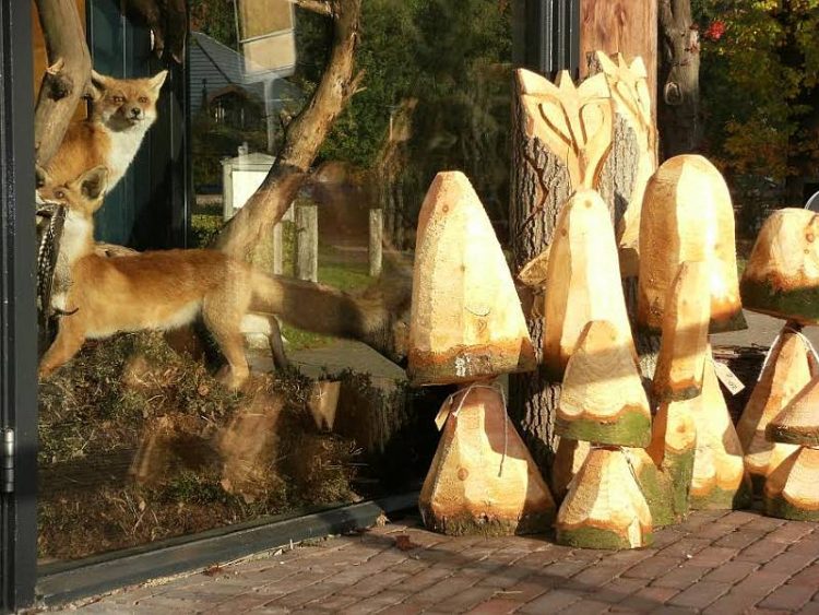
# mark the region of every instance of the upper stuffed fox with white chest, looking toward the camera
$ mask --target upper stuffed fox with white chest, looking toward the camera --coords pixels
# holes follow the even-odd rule
[[[91,115],[69,125],[60,149],[45,166],[49,177],[66,184],[102,165],[108,168],[108,190],[114,188],[156,121],[156,100],[167,74],[114,79],[92,71]]]

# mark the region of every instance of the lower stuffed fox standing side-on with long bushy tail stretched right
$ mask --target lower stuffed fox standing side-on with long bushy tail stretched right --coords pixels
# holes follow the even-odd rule
[[[70,271],[68,289],[52,296],[51,306],[62,316],[57,338],[40,360],[40,377],[70,360],[86,339],[175,329],[199,315],[227,359],[221,377],[233,388],[249,375],[241,334],[249,312],[277,315],[295,327],[359,339],[392,354],[394,319],[408,309],[408,288],[353,297],[321,284],[270,277],[215,250],[114,258],[96,253],[93,215],[103,203],[107,175],[105,167],[95,167],[55,185],[38,169],[38,200],[67,206],[59,259]]]

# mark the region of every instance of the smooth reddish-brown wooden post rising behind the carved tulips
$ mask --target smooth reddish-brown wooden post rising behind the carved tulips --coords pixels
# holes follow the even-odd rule
[[[656,0],[581,0],[580,2],[580,76],[589,74],[590,58],[595,51],[609,56],[643,58],[648,87],[657,91],[657,2]],[[656,103],[651,106],[656,117]]]

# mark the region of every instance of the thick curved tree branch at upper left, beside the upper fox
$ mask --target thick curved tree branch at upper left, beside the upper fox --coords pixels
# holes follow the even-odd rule
[[[76,104],[86,91],[91,55],[74,0],[36,3],[49,67],[34,111],[34,147],[37,164],[45,165],[62,143]]]

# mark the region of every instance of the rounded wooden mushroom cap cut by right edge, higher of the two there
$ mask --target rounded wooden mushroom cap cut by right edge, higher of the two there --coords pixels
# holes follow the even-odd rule
[[[819,323],[819,216],[773,212],[753,244],[740,291],[746,308],[803,324]]]

